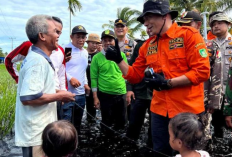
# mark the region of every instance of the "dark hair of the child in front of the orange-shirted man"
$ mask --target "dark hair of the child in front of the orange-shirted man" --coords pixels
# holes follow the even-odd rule
[[[180,139],[184,146],[195,150],[204,136],[204,124],[199,117],[192,113],[180,113],[169,122],[175,138]]]

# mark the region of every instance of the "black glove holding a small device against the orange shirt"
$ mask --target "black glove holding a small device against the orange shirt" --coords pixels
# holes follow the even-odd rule
[[[150,77],[145,77],[144,80],[145,82],[148,84],[149,87],[151,87],[152,89],[155,89],[157,91],[161,91],[161,90],[168,90],[171,88],[171,86],[168,84],[169,80],[166,80],[164,78],[163,74],[157,74],[154,73],[152,75],[153,78]]]

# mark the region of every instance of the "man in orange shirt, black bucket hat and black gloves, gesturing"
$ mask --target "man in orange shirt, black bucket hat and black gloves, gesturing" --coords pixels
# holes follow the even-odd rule
[[[129,66],[123,61],[118,44],[106,51],[106,58],[118,64],[130,83],[140,82],[148,66],[154,70],[152,77],[145,80],[154,89],[150,109],[156,157],[172,155],[168,135],[170,118],[181,112],[204,112],[203,82],[210,75],[203,38],[196,29],[173,23],[177,15],[177,11],[169,10],[168,0],[145,2],[137,20],[155,36],[140,48],[134,64]]]

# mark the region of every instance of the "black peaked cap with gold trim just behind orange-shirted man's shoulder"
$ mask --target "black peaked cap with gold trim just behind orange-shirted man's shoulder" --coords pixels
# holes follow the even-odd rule
[[[190,23],[192,21],[202,21],[201,15],[195,11],[186,11],[181,15],[181,18],[177,23]]]

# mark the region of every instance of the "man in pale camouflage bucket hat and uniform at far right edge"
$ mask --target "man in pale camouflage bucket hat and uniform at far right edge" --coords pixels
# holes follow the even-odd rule
[[[208,94],[208,108],[213,113],[212,125],[214,126],[214,136],[216,137],[223,137],[225,120],[221,108],[224,105],[226,108],[228,106],[227,99],[225,99],[225,92],[229,65],[231,63],[231,53],[227,50],[229,47],[228,42],[231,42],[232,38],[228,32],[230,25],[231,21],[225,13],[219,12],[210,18],[210,27],[212,33],[216,36],[216,39],[213,40],[219,48],[215,54],[214,66],[211,70],[211,77],[213,79]],[[226,112],[224,114],[226,116],[226,122],[231,122],[231,116]]]

